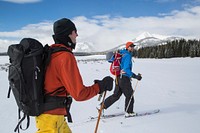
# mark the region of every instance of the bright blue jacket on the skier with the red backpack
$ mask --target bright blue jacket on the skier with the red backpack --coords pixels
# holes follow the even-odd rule
[[[121,70],[125,72],[122,75],[131,78],[132,76],[135,75],[135,73],[132,72],[132,55],[126,49],[120,50],[120,54],[123,55],[120,67]]]

